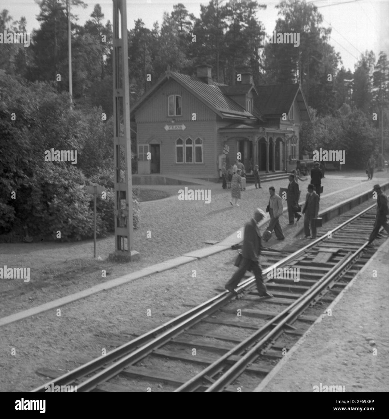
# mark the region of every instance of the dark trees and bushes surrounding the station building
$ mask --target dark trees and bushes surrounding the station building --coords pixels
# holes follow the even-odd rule
[[[91,208],[80,187],[91,181],[112,186],[111,22],[103,23],[106,17],[97,4],[81,26],[76,13],[86,4],[68,1],[72,100],[67,93],[66,1],[37,1],[40,26],[31,33],[30,47],[0,47],[0,234],[23,225],[53,233],[58,223],[50,220],[60,217],[66,238],[89,235]],[[214,80],[229,85],[236,83],[242,69],[253,73],[256,85],[301,83],[313,122],[303,124],[300,150],[312,151],[317,145],[344,149],[350,167],[361,168],[370,151],[379,152],[382,117],[384,139],[388,138],[386,54],[375,57],[366,51],[354,70],[346,70],[329,44],[331,29],[322,25],[316,6],[283,0],[276,7],[278,20],[266,28],[267,33],[298,32],[299,47],[265,42],[267,34],[257,12],[266,6],[251,0],[211,0],[201,5],[199,18],[178,3],[152,29],[141,19],[135,21],[128,31],[130,106],[168,66],[194,75],[196,65],[207,63],[213,67]],[[15,21],[7,10],[0,12],[0,32],[26,32],[26,24],[25,17]],[[132,146],[136,153],[136,144]],[[77,168],[43,164],[41,155],[51,147],[79,150]],[[12,191],[17,192],[16,199],[10,198]],[[100,234],[112,227],[109,205],[112,208],[109,199],[99,204]]]

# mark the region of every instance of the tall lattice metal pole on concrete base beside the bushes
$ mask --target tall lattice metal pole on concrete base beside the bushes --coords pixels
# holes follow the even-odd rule
[[[116,258],[134,261],[126,0],[113,1],[113,166]]]

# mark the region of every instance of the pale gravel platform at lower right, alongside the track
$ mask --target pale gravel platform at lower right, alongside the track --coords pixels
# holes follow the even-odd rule
[[[388,279],[386,240],[254,391],[388,391]]]

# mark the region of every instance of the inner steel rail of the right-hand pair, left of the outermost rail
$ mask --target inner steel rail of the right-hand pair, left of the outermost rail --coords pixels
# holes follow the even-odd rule
[[[335,266],[333,266],[329,272],[327,272],[316,284],[314,284],[309,290],[307,290],[303,295],[301,295],[297,300],[295,300],[291,305],[286,307],[284,310],[281,311],[281,313],[278,313],[276,316],[271,318],[267,323],[265,323],[260,329],[256,330],[252,335],[248,336],[244,341],[237,344],[234,348],[230,349],[228,352],[226,352],[222,357],[217,359],[215,362],[213,362],[208,367],[204,368],[204,370],[200,371],[195,377],[188,380],[186,383],[182,384],[180,387],[178,387],[175,392],[181,392],[181,391],[193,391],[196,390],[199,386],[202,385],[202,381],[206,380],[206,377],[212,377],[217,372],[219,372],[222,368],[222,364],[231,357],[232,355],[240,355],[242,352],[247,350],[247,347],[250,347],[250,345],[258,339],[262,339],[263,336],[268,336],[266,333],[268,333],[268,330],[273,330],[273,325],[276,321],[281,320],[282,318],[285,318],[285,316],[288,315],[288,313],[293,310],[294,307],[299,305],[301,301],[303,301],[307,295],[311,294],[316,290],[316,288],[319,287],[319,285],[326,281],[328,277],[330,277],[332,272],[335,272],[335,270],[338,269],[340,264],[343,263],[343,261],[348,257],[346,255],[343,259],[341,259]],[[281,323],[280,323],[281,324]],[[283,324],[283,323],[282,323]],[[268,340],[268,339],[266,339]]]

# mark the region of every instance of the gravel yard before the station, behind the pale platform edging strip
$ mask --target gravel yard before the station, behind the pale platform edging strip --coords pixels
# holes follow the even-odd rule
[[[378,174],[387,176],[384,172]],[[330,172],[326,175],[323,180],[325,194],[322,195],[320,205],[322,209],[371,189],[376,182],[382,183],[387,180],[382,177],[366,181],[361,172]],[[107,279],[120,277],[208,246],[204,241],[221,241],[241,228],[250,219],[255,207],[266,208],[269,186],[275,186],[278,191],[286,184],[287,180],[279,180],[271,184],[263,183],[263,189],[249,186],[242,192],[240,207],[231,207],[230,193],[223,191],[221,184],[205,183],[204,186],[193,186],[193,189],[211,189],[210,204],[202,201],[179,201],[178,191],[185,186],[173,186],[175,193],[172,186],[165,186],[173,194],[172,197],[141,203],[142,221],[139,229],[134,231],[134,250],[140,252],[141,259],[128,264],[106,261],[114,248],[113,236],[98,240],[96,254],[102,259],[100,261],[91,258],[93,241],[1,244],[0,266],[29,267],[30,282],[14,279],[3,279],[0,282],[0,316],[8,316],[84,290]],[[308,181],[300,182],[301,199],[304,199],[307,184]],[[156,186],[152,187],[155,189]],[[326,194],[345,188],[350,189],[326,197]],[[288,226],[287,222],[287,213],[284,213],[281,225],[289,237],[300,229],[303,219],[294,226]],[[151,238],[147,238],[148,231]],[[282,243],[276,242],[274,238],[268,242],[268,246],[274,245],[276,248],[288,244],[291,244],[291,239],[288,238]],[[106,278],[101,277],[103,269],[107,272]]]

